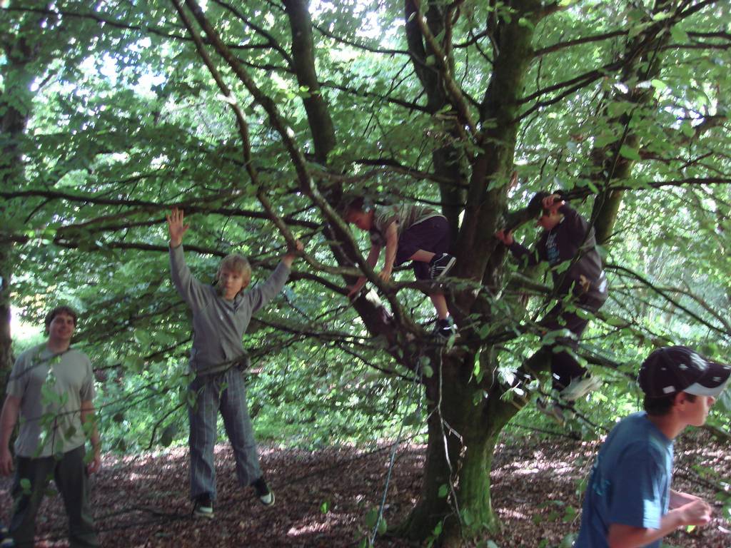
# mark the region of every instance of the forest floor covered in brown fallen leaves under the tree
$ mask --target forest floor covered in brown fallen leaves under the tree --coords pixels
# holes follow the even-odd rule
[[[492,540],[499,548],[557,547],[577,531],[585,478],[598,444],[564,438],[534,438],[501,444],[493,465],[493,506],[504,524]],[[406,517],[416,501],[424,446],[401,444],[387,496],[388,524]],[[275,446],[260,448],[262,468],[276,492],[276,505],[264,508],[251,490],[235,482],[229,446],[216,447],[218,501],[213,520],[193,519],[188,500],[188,460],[184,448],[138,457],[107,455],[92,476],[92,505],[102,546],[112,547],[358,547],[366,537],[366,514],[383,495],[390,447],[366,452],[355,448],[305,452]],[[676,444],[676,490],[713,503],[716,491],[694,471],[708,466],[731,478],[731,454],[702,434]],[[0,516],[7,520],[10,480],[0,480]],[[727,493],[728,495],[729,493]],[[673,547],[731,547],[731,524],[715,503],[711,524],[692,533],[675,533]],[[66,519],[59,497],[47,497],[37,520],[37,546],[64,547]],[[494,546],[483,539],[476,546]],[[378,547],[408,547],[405,541],[379,539]]]

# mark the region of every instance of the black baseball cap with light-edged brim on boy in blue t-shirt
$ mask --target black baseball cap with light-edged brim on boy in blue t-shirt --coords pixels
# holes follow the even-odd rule
[[[731,375],[731,366],[711,362],[687,346],[665,346],[653,351],[642,364],[637,381],[648,397],[678,392],[718,396]]]

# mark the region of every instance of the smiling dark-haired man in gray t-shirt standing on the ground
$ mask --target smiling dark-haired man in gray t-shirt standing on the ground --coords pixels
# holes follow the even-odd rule
[[[70,346],[76,319],[67,306],[50,311],[45,321],[48,340],[18,356],[7,384],[0,414],[0,474],[14,470],[8,445],[19,422],[9,527],[19,546],[33,545],[35,517],[50,476],[64,498],[71,546],[99,546],[88,505],[88,473],[101,465],[94,372],[86,354]],[[94,448],[88,465],[86,433]]]

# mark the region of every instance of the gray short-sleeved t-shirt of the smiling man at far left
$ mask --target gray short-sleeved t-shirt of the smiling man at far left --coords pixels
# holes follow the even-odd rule
[[[15,360],[7,394],[20,398],[20,432],[15,454],[50,457],[86,441],[81,402],[94,400],[94,371],[86,354],[68,349],[54,354],[46,343]]]

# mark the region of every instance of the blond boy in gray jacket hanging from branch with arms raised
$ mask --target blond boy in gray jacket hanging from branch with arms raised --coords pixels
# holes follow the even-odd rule
[[[213,446],[216,444],[218,411],[231,442],[236,475],[242,487],[251,485],[265,506],[272,506],[274,493],[268,487],[259,465],[254,431],[246,406],[246,384],[242,365],[248,357],[241,338],[249,327],[251,315],[281,291],[295,256],[303,251],[298,241],[265,283],[244,292],[251,281],[251,267],[245,257],[232,254],[219,266],[216,286],[192,277],[183,258],[183,211],[173,208],[167,216],[170,232],[170,274],[178,294],[193,312],[193,346],[190,369],[195,378],[189,389],[196,403],[189,408],[190,480],[193,513],[213,517],[216,499],[216,472]]]

